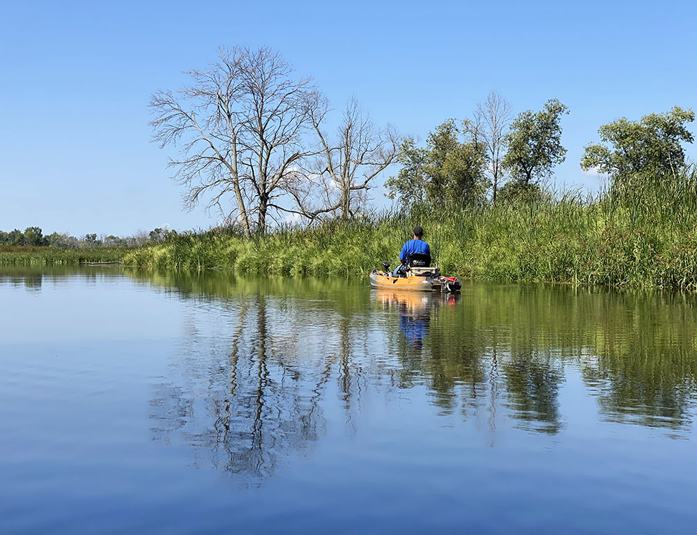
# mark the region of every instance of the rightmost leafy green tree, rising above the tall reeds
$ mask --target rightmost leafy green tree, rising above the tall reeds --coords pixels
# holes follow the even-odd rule
[[[694,118],[694,111],[676,106],[665,114],[645,115],[641,121],[622,117],[602,125],[598,133],[606,145],[585,146],[581,168],[608,173],[620,183],[640,175],[675,177],[685,163],[682,144],[694,141],[686,126]]]

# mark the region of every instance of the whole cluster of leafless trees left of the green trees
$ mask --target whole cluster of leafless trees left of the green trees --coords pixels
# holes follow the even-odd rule
[[[365,206],[372,181],[394,159],[394,132],[375,127],[353,99],[330,139],[325,98],[277,52],[236,47],[218,56],[188,72],[188,86],[158,91],[150,103],[153,139],[178,145],[170,165],[187,205],[217,208],[247,237],[289,214],[348,219]]]

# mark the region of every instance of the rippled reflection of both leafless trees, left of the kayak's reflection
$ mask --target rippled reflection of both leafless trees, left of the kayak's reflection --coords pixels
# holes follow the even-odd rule
[[[209,297],[183,295],[204,304]],[[363,373],[353,354],[368,351],[364,307],[326,297],[245,291],[227,295],[220,316],[192,314],[172,378],[151,403],[155,440],[190,445],[194,465],[256,486],[325,433],[328,391],[336,391],[354,433]],[[206,320],[229,325],[227,337],[201,336]]]

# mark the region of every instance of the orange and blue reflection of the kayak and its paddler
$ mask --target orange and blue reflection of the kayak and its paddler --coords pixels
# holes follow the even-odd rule
[[[385,309],[399,311],[399,330],[410,346],[421,349],[429,334],[434,307],[454,305],[460,299],[453,293],[415,293],[399,290],[370,290],[372,300]]]

